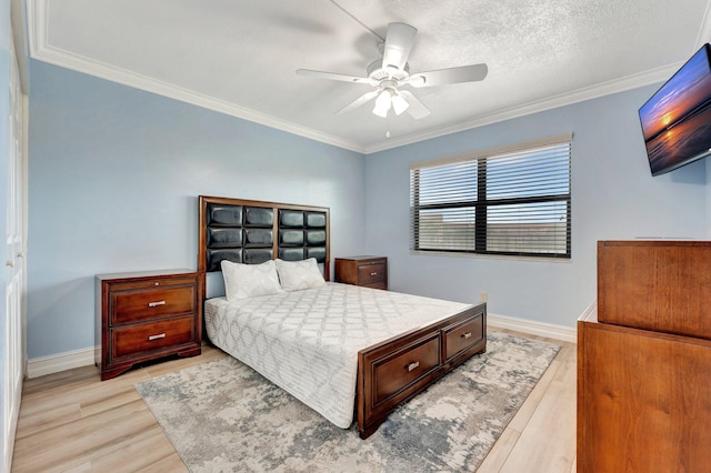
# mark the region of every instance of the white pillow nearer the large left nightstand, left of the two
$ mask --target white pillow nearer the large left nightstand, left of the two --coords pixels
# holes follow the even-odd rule
[[[273,260],[260,264],[240,264],[222,260],[224,295],[228,301],[283,292]]]

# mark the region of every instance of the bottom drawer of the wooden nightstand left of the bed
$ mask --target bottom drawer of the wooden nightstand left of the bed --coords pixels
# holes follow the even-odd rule
[[[194,339],[192,315],[111,329],[113,360],[190,343]]]

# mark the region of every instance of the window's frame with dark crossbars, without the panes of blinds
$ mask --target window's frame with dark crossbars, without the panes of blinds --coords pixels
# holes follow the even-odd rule
[[[552,259],[570,261],[572,255],[572,133],[563,133],[552,137],[545,137],[538,140],[531,140],[514,144],[507,144],[502,147],[495,147],[485,150],[479,150],[458,154],[453,157],[438,158],[433,160],[419,161],[410,164],[410,251],[414,254],[452,254],[452,255],[493,255],[493,256],[513,256],[522,259]],[[489,200],[487,197],[487,178],[488,167],[491,160],[504,157],[525,155],[541,150],[558,149],[559,147],[568,147],[568,177],[567,177],[567,193],[549,193],[524,195],[524,197],[510,197],[510,198],[495,198]],[[473,200],[463,200],[459,202],[434,202],[421,204],[420,202],[420,174],[422,170],[433,168],[444,168],[453,164],[473,163],[477,162],[477,192]],[[509,171],[510,172],[510,171]],[[499,205],[511,204],[537,204],[561,202],[565,205],[565,250],[550,251],[550,252],[537,252],[537,251],[503,251],[503,250],[488,250],[487,244],[491,242],[491,238],[488,235],[488,214],[489,209]],[[457,209],[457,208],[473,208],[474,209],[474,248],[471,249],[447,249],[447,248],[421,248],[420,231],[421,213],[422,211],[437,210],[437,209]]]

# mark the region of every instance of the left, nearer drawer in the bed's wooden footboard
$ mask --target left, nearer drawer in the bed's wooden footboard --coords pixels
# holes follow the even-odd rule
[[[440,364],[440,338],[437,332],[380,360],[373,366],[373,406],[398,394]]]

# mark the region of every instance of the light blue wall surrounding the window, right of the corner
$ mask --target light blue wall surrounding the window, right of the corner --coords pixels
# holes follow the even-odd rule
[[[462,302],[475,302],[487,291],[492,314],[574,326],[595,299],[598,240],[708,238],[705,163],[650,175],[637,110],[655,90],[642,88],[368,155],[365,246],[388,255],[390,288]],[[563,132],[574,133],[570,262],[410,254],[410,162]]]

